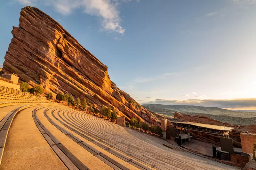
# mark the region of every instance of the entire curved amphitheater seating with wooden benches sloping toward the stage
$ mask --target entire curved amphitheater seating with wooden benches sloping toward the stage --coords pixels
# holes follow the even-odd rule
[[[0,87],[0,94],[0,107],[9,104],[0,108],[0,169],[239,169],[28,93]]]

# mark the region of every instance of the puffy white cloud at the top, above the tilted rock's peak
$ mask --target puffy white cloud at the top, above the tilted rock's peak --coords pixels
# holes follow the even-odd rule
[[[73,10],[82,8],[89,15],[100,18],[102,31],[124,34],[125,29],[121,26],[120,11],[118,6],[124,0],[16,0],[22,5],[43,4],[53,6],[56,11],[63,15],[69,15]]]

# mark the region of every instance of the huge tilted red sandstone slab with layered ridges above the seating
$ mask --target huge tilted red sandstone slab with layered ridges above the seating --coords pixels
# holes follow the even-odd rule
[[[35,7],[20,12],[19,27],[13,27],[12,41],[5,55],[4,73],[15,73],[31,86],[45,92],[86,98],[100,109],[116,109],[118,117],[137,117],[158,124],[153,112],[140,106],[110,80],[108,67],[80,45],[58,22]],[[134,104],[129,101],[133,100]]]

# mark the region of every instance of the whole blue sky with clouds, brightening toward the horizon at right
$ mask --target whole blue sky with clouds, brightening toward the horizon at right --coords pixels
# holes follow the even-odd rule
[[[59,22],[140,104],[256,108],[256,0],[2,0],[0,64],[26,5]]]

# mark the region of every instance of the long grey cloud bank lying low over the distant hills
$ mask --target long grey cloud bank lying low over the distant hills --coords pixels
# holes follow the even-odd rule
[[[250,99],[189,99],[189,100],[168,100],[156,99],[141,104],[174,104],[174,105],[195,105],[206,107],[220,107],[220,108],[250,108],[256,107],[256,98]]]

